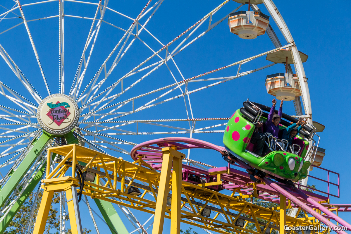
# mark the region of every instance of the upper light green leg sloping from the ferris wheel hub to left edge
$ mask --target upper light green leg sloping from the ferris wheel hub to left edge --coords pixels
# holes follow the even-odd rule
[[[5,183],[4,187],[0,190],[0,207],[4,206],[8,197],[12,194],[13,190],[17,187],[23,176],[28,172],[29,168],[42,153],[50,139],[51,135],[43,132],[40,138],[34,143],[33,147],[29,150],[23,161]]]

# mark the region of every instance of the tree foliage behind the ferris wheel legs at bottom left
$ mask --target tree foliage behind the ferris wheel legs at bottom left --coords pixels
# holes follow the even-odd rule
[[[21,206],[21,208],[18,210],[18,212],[15,214],[13,217],[12,221],[10,222],[9,226],[6,228],[4,231],[4,234],[22,234],[25,233],[26,230],[26,224],[28,222],[28,219],[31,217],[31,211],[33,205],[35,206],[34,209],[34,217],[32,221],[31,228],[34,227],[35,223],[35,214],[38,214],[39,206],[40,206],[40,201],[43,195],[43,191],[40,190],[38,194],[38,199],[34,203],[35,199],[35,192],[32,192],[31,195],[29,195],[28,199],[24,202],[24,204]],[[54,208],[54,204],[58,204],[60,202],[60,193],[54,193],[48,218],[46,221],[45,225],[45,233],[47,234],[59,234],[60,233],[60,214],[58,208]],[[69,220],[68,213],[66,214],[66,221]],[[91,230],[87,228],[83,228],[83,234],[89,234]],[[67,234],[71,234],[71,229],[68,229]]]

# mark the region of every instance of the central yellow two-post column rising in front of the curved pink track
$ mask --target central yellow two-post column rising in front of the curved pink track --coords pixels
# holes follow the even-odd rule
[[[172,161],[174,169],[173,176],[175,178],[172,178],[171,234],[175,234],[180,233],[181,160],[185,157],[185,154],[179,153],[170,147],[162,148],[162,152],[163,162],[152,234],[162,234],[163,232]]]

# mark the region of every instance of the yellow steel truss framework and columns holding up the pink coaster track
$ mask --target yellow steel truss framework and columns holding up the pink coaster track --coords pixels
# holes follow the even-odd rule
[[[46,179],[42,180],[45,196],[38,212],[35,234],[42,234],[40,231],[43,229],[40,228],[45,227],[47,216],[45,212],[47,212],[46,209],[49,209],[51,201],[50,191],[66,191],[71,226],[75,227],[72,229],[72,233],[79,232],[76,219],[78,206],[75,206],[76,209],[74,209],[74,201],[71,200],[74,196],[72,193],[75,190],[74,187],[79,186],[78,179],[71,174],[71,170],[75,170],[75,167],[80,168],[82,172],[94,173],[97,178],[96,182],[84,181],[82,194],[93,199],[97,198],[154,214],[153,234],[162,233],[164,218],[171,219],[171,231],[168,232],[171,234],[179,234],[180,222],[223,234],[233,231],[237,234],[261,233],[260,230],[256,232],[247,229],[248,224],[265,227],[267,230],[274,229],[280,231],[280,234],[286,233],[284,225],[289,227],[319,225],[319,222],[312,222],[308,216],[306,219],[286,216],[286,199],[283,195],[280,195],[279,212],[237,198],[234,196],[236,193],[234,191],[232,195],[226,195],[201,187],[191,181],[181,180],[182,159],[185,155],[174,148],[162,149],[161,172],[158,171],[159,168],[147,165],[147,162],[144,162],[140,155],[138,155],[138,161],[133,163],[75,144],[53,147],[48,152],[62,155],[63,159],[55,162],[57,163],[56,167],[52,171],[48,171]],[[86,163],[86,165],[81,166],[77,163],[78,161]],[[47,168],[50,168],[50,163],[49,160]],[[172,163],[173,172],[171,171]],[[105,182],[101,184],[102,178],[106,179],[106,184]],[[129,178],[128,183],[125,183],[125,178]],[[220,178],[217,182],[220,182]],[[121,183],[121,187],[118,183]],[[127,188],[132,186],[140,189],[139,196],[128,194]],[[245,196],[258,195],[256,184],[246,186],[253,186],[253,192]],[[171,207],[167,206],[170,190],[172,191]],[[148,194],[153,194],[153,196]],[[243,196],[240,190],[239,194]],[[276,195],[279,196],[279,194]],[[181,205],[182,203],[183,205]],[[202,212],[205,209],[210,209],[210,213],[216,215],[208,216],[208,210]],[[221,218],[222,215],[225,217],[224,219]],[[244,220],[244,227],[237,225],[239,219]]]

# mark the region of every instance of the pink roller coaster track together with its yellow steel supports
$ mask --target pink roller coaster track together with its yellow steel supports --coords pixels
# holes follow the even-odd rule
[[[327,196],[270,177],[254,182],[245,171],[252,169],[251,166],[238,159],[234,159],[232,165],[219,168],[185,159],[181,151],[186,149],[211,149],[217,151],[213,152],[213,158],[218,159],[226,155],[224,147],[190,138],[164,138],[141,143],[131,151],[133,162],[76,144],[49,148],[48,154],[62,155],[62,159],[56,161],[56,167],[50,167],[51,162],[47,161],[47,168],[53,169],[47,171],[46,179],[42,180],[44,199],[33,233],[41,234],[43,223],[45,227],[50,194],[66,191],[70,194],[68,197],[72,197],[74,187],[80,187],[78,190],[91,198],[154,214],[153,234],[163,232],[164,218],[171,219],[171,234],[179,233],[180,222],[218,233],[258,234],[271,233],[272,230],[282,233],[282,225],[317,227],[323,224],[340,234],[346,234],[341,226],[351,230],[349,223],[333,213],[337,209],[347,211],[350,205],[327,204]],[[86,166],[81,166],[78,161]],[[72,165],[82,172],[95,174],[95,182],[79,182],[75,170],[68,170]],[[279,206],[260,206],[261,203],[252,202],[253,198],[275,202]],[[68,208],[72,199],[67,200]],[[78,207],[77,204],[74,206]],[[286,208],[303,210],[305,217],[288,216]],[[69,213],[73,217],[74,209],[69,209]],[[253,224],[250,229],[249,224]],[[72,226],[75,225],[71,223]],[[79,229],[79,225],[77,227]],[[78,229],[73,228],[72,233],[79,233]]]

